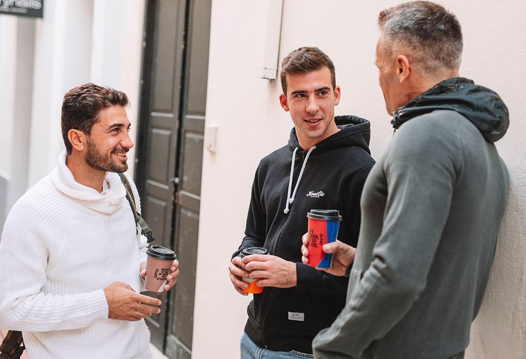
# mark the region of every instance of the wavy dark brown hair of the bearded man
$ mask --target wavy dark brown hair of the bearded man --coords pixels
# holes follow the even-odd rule
[[[69,90],[64,95],[64,102],[62,102],[60,124],[67,154],[73,151],[73,146],[67,138],[69,130],[79,130],[89,136],[93,125],[99,122],[100,110],[114,105],[127,107],[128,104],[126,93],[91,82]]]

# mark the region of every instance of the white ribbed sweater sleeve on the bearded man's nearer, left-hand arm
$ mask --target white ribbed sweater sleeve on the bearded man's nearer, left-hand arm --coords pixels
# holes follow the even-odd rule
[[[46,269],[52,265],[48,263],[50,251],[58,250],[55,242],[46,238],[60,238],[75,217],[64,216],[62,224],[53,228],[51,221],[35,220],[43,217],[39,212],[19,201],[7,217],[0,241],[4,270],[0,276],[0,326],[45,332],[85,328],[99,318],[107,318],[108,304],[102,289],[65,295],[41,291],[46,284]],[[44,236],[44,232],[50,236]],[[82,286],[79,280],[78,287]]]

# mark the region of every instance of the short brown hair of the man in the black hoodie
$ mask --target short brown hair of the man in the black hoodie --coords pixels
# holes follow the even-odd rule
[[[299,75],[327,67],[332,89],[336,89],[336,70],[332,60],[317,47],[300,47],[290,52],[281,62],[281,89],[287,96],[287,75]]]

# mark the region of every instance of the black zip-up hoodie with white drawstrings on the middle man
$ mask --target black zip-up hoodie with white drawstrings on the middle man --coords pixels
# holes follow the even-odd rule
[[[246,237],[232,256],[245,248],[265,247],[271,255],[296,262],[296,287],[266,287],[254,294],[248,307],[245,332],[256,345],[272,351],[312,353],[314,336],[345,306],[348,278],[301,263],[301,236],[307,232],[310,209],[338,209],[343,217],[338,239],[353,247],[358,241],[361,191],[375,163],[369,150],[370,123],[350,115],[335,121],[340,131],[310,153],[301,149],[293,128],[289,144],[261,160],[252,185]]]

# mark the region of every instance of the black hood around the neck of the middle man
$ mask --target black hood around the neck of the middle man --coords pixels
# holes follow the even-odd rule
[[[319,150],[334,147],[360,146],[371,154],[369,150],[371,123],[369,121],[353,115],[335,116],[334,119],[340,131],[317,143],[316,150],[318,152]],[[289,147],[291,152],[294,151],[296,147],[299,147],[299,151],[302,151],[294,127],[290,131]],[[313,151],[312,155],[316,155],[317,151]]]

